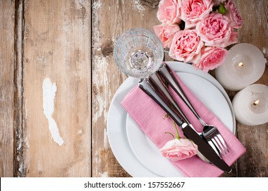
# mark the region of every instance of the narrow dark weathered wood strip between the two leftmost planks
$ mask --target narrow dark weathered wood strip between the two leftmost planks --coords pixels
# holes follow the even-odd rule
[[[14,177],[23,177],[23,5],[15,1]]]

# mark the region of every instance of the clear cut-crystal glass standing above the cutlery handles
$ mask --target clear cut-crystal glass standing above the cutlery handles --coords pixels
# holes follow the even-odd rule
[[[124,74],[145,78],[155,73],[163,62],[163,45],[152,31],[131,29],[118,38],[113,57]]]

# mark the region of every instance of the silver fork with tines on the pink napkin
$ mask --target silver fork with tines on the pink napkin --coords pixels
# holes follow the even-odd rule
[[[224,156],[224,153],[229,153],[230,151],[224,141],[224,138],[222,137],[222,134],[219,133],[219,130],[217,130],[215,126],[206,124],[200,115],[196,112],[195,108],[193,108],[191,102],[189,102],[189,99],[185,95],[185,92],[180,87],[174,74],[172,74],[172,70],[169,68],[169,66],[167,64],[164,64],[161,68],[159,68],[157,74],[161,76],[161,81],[165,87],[172,87],[172,89],[174,89],[174,91],[180,96],[183,102],[185,102],[185,104],[189,107],[193,115],[195,115],[198,121],[200,121],[203,126],[203,132],[201,133],[202,136],[204,136],[209,145],[213,147],[218,156],[221,157]]]

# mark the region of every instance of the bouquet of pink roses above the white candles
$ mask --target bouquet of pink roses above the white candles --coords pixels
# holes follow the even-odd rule
[[[155,33],[173,59],[208,72],[224,63],[243,25],[234,0],[161,0]]]

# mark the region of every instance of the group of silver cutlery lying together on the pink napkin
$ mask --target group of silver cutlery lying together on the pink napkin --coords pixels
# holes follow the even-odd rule
[[[222,160],[222,156],[229,152],[224,138],[215,126],[208,125],[193,108],[185,92],[180,87],[170,67],[164,63],[159,70],[147,78],[139,80],[139,88],[155,100],[161,108],[169,115],[183,130],[183,134],[198,145],[198,157],[220,168],[222,171],[230,172],[232,168]],[[203,126],[203,132],[196,132],[187,119],[176,100],[172,97],[170,88],[185,102],[193,115],[195,115]]]

